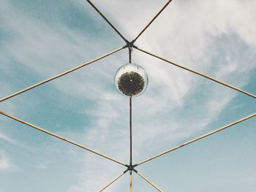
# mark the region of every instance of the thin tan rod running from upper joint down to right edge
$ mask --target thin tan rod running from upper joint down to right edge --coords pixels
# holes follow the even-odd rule
[[[186,66],[181,66],[180,64],[176,64],[176,63],[174,63],[173,61],[169,61],[169,60],[167,60],[167,59],[165,59],[165,58],[162,58],[162,57],[160,57],[160,56],[158,56],[158,55],[154,55],[153,53],[149,53],[148,51],[143,50],[143,49],[140,49],[139,47],[136,47],[136,46],[135,46],[135,49],[140,50],[140,51],[143,52],[143,53],[147,53],[148,55],[151,55],[151,56],[153,56],[153,57],[155,57],[155,58],[159,58],[159,59],[161,59],[162,61],[166,61],[166,62],[169,63],[169,64],[173,64],[174,66],[178,66],[178,67],[181,68],[181,69],[185,69],[185,70],[187,70],[187,71],[189,71],[189,72],[192,72],[192,73],[194,73],[194,74],[198,74],[198,75],[200,75],[200,76],[202,76],[202,77],[205,77],[205,78],[208,79],[208,80],[212,80],[212,81],[217,82],[217,83],[219,83],[219,84],[221,84],[221,85],[224,85],[224,86],[226,86],[226,87],[228,87],[228,88],[232,88],[233,90],[239,91],[239,92],[241,92],[241,93],[246,94],[247,96],[251,96],[251,97],[253,97],[254,99],[256,99],[256,96],[255,96],[254,94],[249,93],[249,92],[247,92],[247,91],[244,91],[244,90],[242,90],[242,89],[240,89],[240,88],[236,88],[235,86],[230,85],[230,84],[227,84],[226,82],[222,82],[222,81],[220,81],[220,80],[217,80],[217,79],[215,79],[214,77],[210,77],[210,76],[208,76],[208,75],[206,75],[206,74],[203,74],[203,73],[201,73],[201,72],[197,72],[197,71],[195,71],[195,70],[193,70],[193,69],[189,69],[189,68],[186,67]]]

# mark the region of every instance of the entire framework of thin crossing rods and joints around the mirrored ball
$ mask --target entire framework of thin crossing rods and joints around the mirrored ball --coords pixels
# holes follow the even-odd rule
[[[170,2],[173,1],[173,0],[167,1],[167,3],[165,4],[165,6],[162,7],[162,9],[160,9],[159,12],[157,12],[157,15],[154,16],[154,18],[143,28],[142,31],[140,31],[140,33],[138,34],[138,36],[135,37],[135,39],[133,39],[131,42],[129,42],[129,41],[117,30],[117,28],[116,28],[115,26],[113,26],[112,23],[110,23],[110,21],[108,20],[108,18],[106,18],[105,15],[103,15],[102,12],[100,12],[99,9],[98,9],[91,1],[89,1],[89,0],[86,0],[86,1],[91,5],[91,7],[93,7],[93,8],[99,13],[99,15],[110,25],[110,27],[113,28],[114,31],[116,31],[116,33],[119,35],[119,37],[121,37],[121,39],[124,40],[124,42],[126,43],[126,45],[124,45],[123,47],[119,47],[119,48],[117,48],[116,50],[112,50],[112,51],[110,51],[109,53],[106,53],[105,55],[101,55],[101,56],[99,56],[98,58],[95,58],[95,59],[93,59],[93,60],[91,60],[91,61],[87,61],[86,63],[80,64],[80,65],[76,66],[75,68],[72,68],[72,69],[67,70],[66,72],[62,72],[62,73],[60,73],[60,74],[56,74],[56,76],[50,77],[50,78],[48,78],[48,79],[46,79],[46,80],[42,80],[41,82],[38,82],[38,83],[36,83],[36,84],[34,84],[34,85],[31,85],[31,86],[29,86],[29,87],[27,87],[27,88],[24,88],[23,90],[20,90],[20,91],[18,91],[18,92],[12,93],[10,96],[6,96],[6,97],[0,99],[0,102],[6,101],[7,99],[10,99],[10,98],[12,98],[12,97],[14,97],[14,96],[18,96],[18,95],[21,94],[21,93],[25,93],[26,91],[29,91],[29,90],[31,90],[31,89],[33,89],[33,88],[36,88],[36,87],[38,87],[39,85],[45,84],[46,82],[50,82],[50,81],[52,81],[52,80],[56,80],[56,79],[58,79],[59,77],[62,77],[62,76],[64,76],[64,75],[66,75],[66,74],[69,74],[69,73],[71,73],[71,72],[75,72],[76,70],[78,70],[78,69],[80,69],[80,68],[83,68],[84,66],[87,66],[87,65],[89,65],[89,64],[92,64],[92,63],[94,63],[95,61],[99,61],[99,60],[102,59],[102,58],[108,57],[109,55],[112,55],[113,53],[116,53],[116,52],[118,52],[119,50],[123,50],[124,48],[128,48],[128,50],[129,50],[129,63],[131,63],[131,61],[132,61],[132,56],[131,56],[131,55],[132,55],[132,49],[135,48],[136,50],[140,50],[140,51],[143,52],[143,53],[146,53],[146,54],[148,54],[148,55],[151,55],[151,56],[153,56],[153,57],[155,57],[155,58],[159,58],[160,60],[165,61],[165,62],[167,62],[168,64],[172,64],[173,66],[177,66],[177,67],[179,67],[179,68],[181,68],[181,69],[187,70],[187,71],[192,72],[192,73],[197,74],[197,75],[200,75],[201,77],[205,77],[205,78],[208,79],[208,80],[212,80],[212,81],[214,81],[214,82],[217,82],[217,83],[219,83],[219,84],[221,84],[221,85],[226,86],[227,88],[231,88],[231,89],[233,89],[233,90],[235,90],[235,91],[239,91],[240,93],[244,93],[244,94],[246,94],[247,96],[250,96],[250,97],[256,99],[256,95],[255,95],[255,94],[252,94],[252,93],[249,93],[249,92],[247,92],[247,91],[244,91],[244,90],[242,90],[241,88],[236,88],[236,87],[233,86],[233,85],[230,85],[230,84],[228,84],[228,83],[226,83],[226,82],[222,82],[221,80],[217,80],[216,78],[211,77],[211,76],[208,76],[207,74],[203,74],[202,72],[197,72],[197,71],[195,71],[194,69],[190,69],[190,68],[187,67],[187,66],[182,66],[182,65],[180,65],[180,64],[176,64],[176,63],[173,62],[173,61],[167,60],[166,58],[162,58],[161,56],[155,55],[154,53],[150,53],[150,52],[148,52],[147,50],[143,50],[142,48],[140,48],[140,47],[138,47],[138,46],[135,45],[135,42],[137,41],[137,39],[143,34],[144,31],[146,31],[146,29],[148,28],[148,26],[150,26],[151,23],[154,22],[154,20],[162,13],[162,11],[163,11],[163,10],[170,4]],[[196,142],[196,141],[198,141],[198,140],[200,140],[200,139],[203,139],[203,138],[205,138],[205,137],[208,137],[208,136],[210,136],[210,135],[212,135],[212,134],[216,134],[216,133],[219,132],[219,131],[225,130],[225,128],[229,128],[229,127],[231,127],[231,126],[234,126],[234,125],[236,125],[236,124],[238,124],[238,123],[243,122],[244,120],[248,120],[249,118],[252,118],[252,117],[255,117],[255,116],[256,116],[256,112],[255,112],[255,113],[253,113],[253,114],[251,114],[251,115],[248,115],[248,116],[246,116],[246,117],[244,117],[244,118],[241,118],[241,119],[239,119],[239,120],[236,120],[236,121],[234,121],[233,123],[227,124],[226,126],[222,126],[221,128],[217,128],[216,130],[211,131],[211,132],[209,132],[208,134],[203,134],[203,135],[200,136],[200,137],[197,137],[197,138],[195,138],[195,139],[191,139],[191,140],[189,140],[188,142],[184,142],[184,143],[181,144],[181,145],[178,145],[178,146],[176,146],[176,147],[172,147],[172,148],[170,148],[170,149],[168,149],[168,150],[165,150],[165,151],[162,152],[162,153],[159,153],[159,154],[157,154],[157,155],[154,155],[154,156],[152,156],[151,158],[147,158],[147,159],[145,159],[145,160],[143,160],[143,161],[140,161],[138,164],[132,164],[132,98],[130,98],[130,99],[129,99],[130,162],[129,162],[129,164],[124,164],[124,163],[121,162],[121,161],[118,161],[118,160],[116,160],[116,159],[114,159],[114,158],[110,158],[108,155],[99,153],[99,152],[97,152],[97,151],[95,151],[95,150],[92,150],[92,149],[89,148],[89,147],[86,147],[86,146],[84,146],[84,145],[80,145],[80,144],[78,144],[77,142],[73,142],[73,141],[71,141],[70,139],[61,137],[61,136],[59,136],[59,135],[57,135],[57,134],[53,134],[53,133],[50,132],[50,131],[47,131],[47,130],[45,130],[45,129],[43,129],[43,128],[40,128],[39,126],[35,126],[35,125],[31,124],[31,123],[28,123],[28,122],[26,122],[25,120],[21,120],[21,119],[19,119],[19,118],[16,118],[16,117],[14,117],[14,116],[12,116],[12,115],[10,115],[10,114],[7,114],[6,112],[0,111],[0,114],[6,116],[6,117],[8,117],[8,118],[11,118],[12,120],[16,120],[16,121],[18,121],[18,122],[20,122],[20,123],[23,123],[23,124],[25,124],[25,125],[27,125],[27,126],[30,126],[31,128],[35,128],[35,129],[37,129],[38,131],[42,131],[42,132],[45,133],[45,134],[48,134],[48,135],[50,135],[50,136],[53,136],[53,137],[56,137],[56,138],[58,138],[58,139],[64,140],[65,142],[68,142],[69,144],[75,145],[75,146],[77,146],[77,147],[81,147],[81,148],[83,148],[84,150],[88,150],[89,152],[94,153],[94,154],[96,154],[96,155],[99,155],[99,156],[101,156],[102,158],[106,158],[106,159],[108,159],[108,160],[110,160],[110,161],[113,161],[113,162],[115,162],[116,164],[120,164],[121,166],[126,167],[126,169],[125,169],[124,172],[122,172],[121,174],[119,174],[118,177],[116,177],[115,179],[113,179],[112,181],[110,181],[110,183],[108,183],[108,185],[105,185],[105,187],[102,188],[102,189],[99,190],[99,191],[104,191],[105,188],[108,188],[108,186],[110,186],[111,184],[113,184],[114,182],[116,182],[116,180],[118,180],[120,177],[122,177],[124,174],[126,174],[127,172],[129,172],[129,174],[130,174],[130,176],[129,176],[129,177],[130,177],[130,184],[129,184],[130,192],[132,191],[132,172],[135,172],[135,173],[138,174],[140,177],[142,177],[143,180],[146,180],[146,182],[149,183],[150,185],[152,185],[155,189],[157,189],[157,191],[162,191],[159,187],[157,187],[157,185],[154,185],[154,183],[152,183],[150,180],[148,180],[146,177],[144,177],[142,174],[140,174],[140,172],[138,172],[138,171],[135,169],[135,167],[140,166],[140,165],[142,165],[142,164],[145,164],[145,163],[148,162],[148,161],[151,161],[151,160],[153,160],[153,159],[155,159],[155,158],[159,158],[159,157],[162,156],[162,155],[165,155],[165,154],[167,154],[167,153],[170,153],[170,152],[172,152],[172,151],[174,151],[174,150],[178,150],[179,148],[184,147],[184,146],[186,146],[186,145],[189,145],[189,144],[191,144],[192,142]]]

